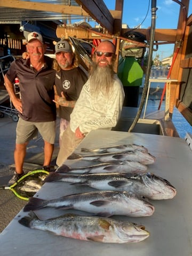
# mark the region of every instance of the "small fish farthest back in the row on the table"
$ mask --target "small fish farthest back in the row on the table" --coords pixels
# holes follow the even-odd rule
[[[131,150],[141,150],[148,152],[148,149],[144,146],[140,146],[137,144],[128,144],[128,145],[117,145],[117,146],[110,146],[110,147],[103,147],[103,148],[81,148],[82,152],[94,152],[94,153],[109,153],[109,152],[117,152],[117,151],[131,151]]]

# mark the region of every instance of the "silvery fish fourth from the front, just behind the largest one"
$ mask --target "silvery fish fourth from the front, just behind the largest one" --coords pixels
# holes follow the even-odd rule
[[[57,172],[59,173],[110,173],[110,172],[147,172],[147,165],[141,164],[134,161],[116,161],[111,163],[99,163],[86,167],[70,168],[63,164],[58,167]]]

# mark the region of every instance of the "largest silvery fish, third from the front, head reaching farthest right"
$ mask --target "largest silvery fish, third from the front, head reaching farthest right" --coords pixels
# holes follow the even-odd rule
[[[63,181],[71,185],[89,186],[98,190],[127,191],[148,199],[171,199],[177,190],[171,183],[153,173],[59,174],[52,172],[45,182]]]

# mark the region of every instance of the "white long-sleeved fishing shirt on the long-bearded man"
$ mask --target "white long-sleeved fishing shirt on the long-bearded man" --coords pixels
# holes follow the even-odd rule
[[[77,127],[82,133],[116,126],[124,101],[122,82],[114,76],[113,90],[109,95],[100,92],[97,97],[90,93],[90,79],[84,84],[81,94],[70,115],[70,128]]]

